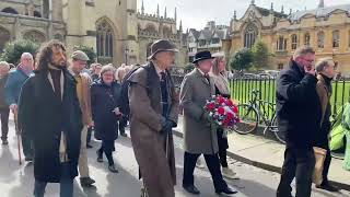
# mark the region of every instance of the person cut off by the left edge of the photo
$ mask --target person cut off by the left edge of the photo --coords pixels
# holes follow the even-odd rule
[[[5,61],[0,61],[0,116],[1,116],[1,141],[2,144],[9,144],[9,114],[10,108],[4,100],[4,85],[9,77],[10,66]]]

